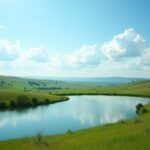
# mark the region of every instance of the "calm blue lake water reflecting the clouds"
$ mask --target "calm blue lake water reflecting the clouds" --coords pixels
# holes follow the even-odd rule
[[[149,99],[122,96],[70,96],[66,102],[23,111],[0,112],[0,140],[102,125],[133,118],[137,103]]]

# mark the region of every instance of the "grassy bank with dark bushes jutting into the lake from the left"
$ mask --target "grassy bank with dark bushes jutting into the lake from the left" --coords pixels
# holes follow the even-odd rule
[[[67,96],[52,95],[48,92],[0,90],[0,110],[35,107],[66,101]]]

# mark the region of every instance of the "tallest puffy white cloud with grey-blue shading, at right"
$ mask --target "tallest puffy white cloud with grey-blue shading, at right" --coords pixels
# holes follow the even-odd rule
[[[112,60],[140,56],[145,46],[143,37],[133,28],[113,37],[101,46],[105,57]]]

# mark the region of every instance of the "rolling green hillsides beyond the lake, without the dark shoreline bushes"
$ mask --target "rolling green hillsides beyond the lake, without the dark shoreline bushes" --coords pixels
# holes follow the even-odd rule
[[[61,100],[61,95],[105,94],[150,97],[150,81],[128,82],[125,84],[102,86],[99,83],[67,82],[0,76],[0,101],[16,99],[20,94],[30,99]],[[60,95],[60,96],[59,96]]]

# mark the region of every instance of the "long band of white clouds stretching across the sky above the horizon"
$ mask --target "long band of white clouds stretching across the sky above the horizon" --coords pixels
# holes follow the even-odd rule
[[[23,75],[149,76],[150,47],[132,28],[102,46],[83,45],[55,55],[44,48],[24,49],[19,42],[0,40],[0,70]]]

